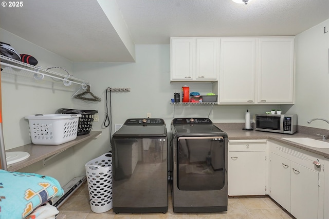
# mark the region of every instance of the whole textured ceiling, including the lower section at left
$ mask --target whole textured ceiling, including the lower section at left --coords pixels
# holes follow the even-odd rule
[[[124,25],[106,13],[107,3],[116,3]],[[134,62],[129,40],[297,35],[328,18],[328,0],[33,0],[0,8],[0,28],[72,62]]]

